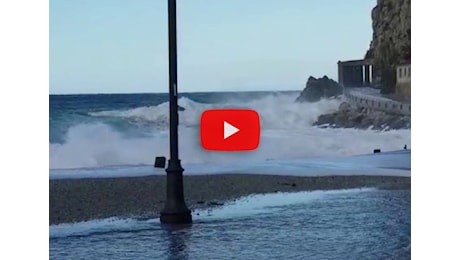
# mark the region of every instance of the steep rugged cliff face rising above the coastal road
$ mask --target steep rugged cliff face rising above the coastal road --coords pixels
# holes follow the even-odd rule
[[[372,9],[372,41],[365,58],[373,60],[382,81],[394,81],[393,75],[386,74],[410,61],[410,26],[410,0],[377,0]],[[382,82],[390,88],[393,83]]]

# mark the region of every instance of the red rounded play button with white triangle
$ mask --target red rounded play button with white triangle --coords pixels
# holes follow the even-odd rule
[[[259,114],[246,109],[213,109],[201,115],[201,145],[206,150],[248,151],[259,146]]]

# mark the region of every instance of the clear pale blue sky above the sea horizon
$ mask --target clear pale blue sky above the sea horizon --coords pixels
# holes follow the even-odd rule
[[[168,91],[167,0],[50,0],[50,93]],[[375,0],[177,0],[180,92],[301,90],[364,57]]]

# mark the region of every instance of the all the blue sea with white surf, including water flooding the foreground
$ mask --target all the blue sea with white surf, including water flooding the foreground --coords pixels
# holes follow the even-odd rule
[[[410,176],[410,129],[313,126],[340,98],[297,103],[299,91],[180,93],[184,175]],[[167,93],[49,96],[49,178],[164,175],[169,156]],[[256,110],[257,150],[201,148],[201,113]],[[402,149],[404,146],[408,149]],[[380,153],[373,153],[380,149]],[[253,195],[194,223],[98,219],[50,226],[51,259],[408,259],[410,190],[373,188]]]

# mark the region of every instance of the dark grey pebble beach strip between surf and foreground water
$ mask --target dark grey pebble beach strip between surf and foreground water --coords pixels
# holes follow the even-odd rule
[[[251,194],[376,187],[411,189],[410,177],[221,174],[184,176],[189,209],[212,208]],[[49,225],[108,217],[158,217],[166,177],[49,180]]]

